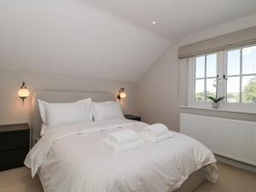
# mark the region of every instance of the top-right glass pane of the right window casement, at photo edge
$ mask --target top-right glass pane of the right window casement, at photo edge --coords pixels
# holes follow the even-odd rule
[[[256,46],[242,49],[242,73],[256,73]]]

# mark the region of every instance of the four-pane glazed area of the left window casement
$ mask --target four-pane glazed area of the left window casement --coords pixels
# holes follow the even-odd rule
[[[216,94],[217,54],[202,55],[195,61],[195,101],[206,102]]]

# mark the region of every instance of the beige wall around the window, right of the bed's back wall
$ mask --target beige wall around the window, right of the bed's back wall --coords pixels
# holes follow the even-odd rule
[[[137,84],[137,112],[146,122],[165,123],[174,131],[179,130],[180,112],[256,121],[256,114],[179,108],[180,103],[184,103],[186,100],[187,73],[184,67],[178,69],[178,47],[183,44],[191,44],[203,39],[213,38],[224,33],[235,32],[250,26],[256,26],[256,15],[196,32],[172,44]],[[178,71],[181,72],[180,77],[178,77]],[[179,81],[180,83],[178,83]]]

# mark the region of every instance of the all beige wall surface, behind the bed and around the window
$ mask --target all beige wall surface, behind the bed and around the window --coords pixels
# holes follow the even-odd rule
[[[0,68],[0,124],[29,121],[31,97],[22,106],[20,98],[17,96],[20,84],[22,81],[26,81],[32,93],[38,90],[67,90],[107,91],[117,94],[119,88],[124,86],[128,95],[125,102],[122,103],[125,113],[141,115],[143,120],[148,123],[165,123],[172,130],[177,131],[180,111],[212,115],[212,112],[207,111],[179,109],[179,102],[184,101],[185,91],[178,95],[178,90],[183,90],[183,87],[178,85],[177,48],[182,44],[190,44],[249,26],[256,26],[256,15],[234,20],[180,39],[160,56],[159,60],[137,83]],[[182,73],[182,75],[180,79],[184,84],[186,73]],[[252,114],[213,113],[213,115],[256,120],[255,115]]]

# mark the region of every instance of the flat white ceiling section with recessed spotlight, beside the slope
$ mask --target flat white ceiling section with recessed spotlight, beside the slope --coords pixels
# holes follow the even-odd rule
[[[78,0],[94,4],[167,38],[256,13],[255,0]],[[153,26],[151,21],[157,21]]]

